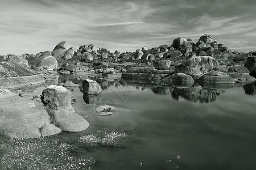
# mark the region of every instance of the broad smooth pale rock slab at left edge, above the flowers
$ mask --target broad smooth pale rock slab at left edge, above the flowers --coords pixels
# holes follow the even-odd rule
[[[60,133],[43,104],[24,97],[0,99],[0,129],[11,138],[39,138]]]

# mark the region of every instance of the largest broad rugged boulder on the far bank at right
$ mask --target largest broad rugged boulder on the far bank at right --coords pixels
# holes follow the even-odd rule
[[[201,76],[218,66],[218,61],[209,56],[192,57],[175,67],[175,73]]]

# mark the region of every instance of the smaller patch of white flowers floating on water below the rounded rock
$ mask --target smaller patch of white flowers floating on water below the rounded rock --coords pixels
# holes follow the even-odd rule
[[[135,143],[138,138],[131,129],[127,128],[102,128],[96,133],[83,135],[77,139],[79,146],[114,146],[123,147]]]

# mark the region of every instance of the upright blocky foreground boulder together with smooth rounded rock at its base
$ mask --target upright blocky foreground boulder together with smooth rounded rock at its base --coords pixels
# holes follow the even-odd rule
[[[48,105],[51,121],[63,131],[82,131],[89,123],[72,107],[72,94],[63,86],[51,85],[43,91],[43,101]]]

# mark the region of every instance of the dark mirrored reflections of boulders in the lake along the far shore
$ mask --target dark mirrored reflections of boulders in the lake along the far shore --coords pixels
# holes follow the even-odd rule
[[[209,104],[217,100],[217,97],[223,94],[227,89],[232,88],[233,84],[202,84],[202,83],[191,83],[191,82],[163,82],[161,80],[123,80],[121,78],[108,80],[108,79],[97,79],[96,80],[102,90],[107,90],[110,87],[122,89],[127,86],[134,86],[136,89],[142,91],[151,90],[157,95],[168,95],[172,99],[180,101],[187,100],[192,103]],[[80,85],[80,91],[82,92],[82,79],[77,76],[61,75],[59,82],[65,83],[72,81],[73,83]],[[255,95],[256,94],[256,83],[250,83],[243,86],[245,94]],[[112,91],[113,93],[113,91]],[[116,93],[114,95],[117,96]],[[101,95],[83,95],[83,99],[86,104],[97,104],[100,101]],[[117,96],[118,97],[118,96]]]

